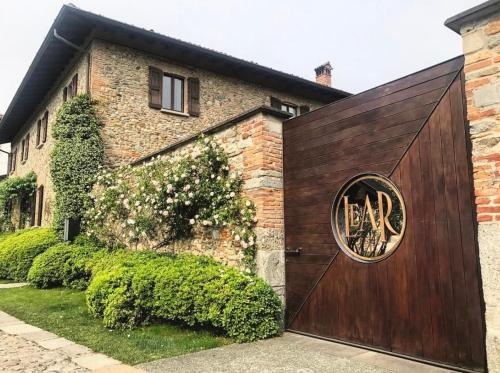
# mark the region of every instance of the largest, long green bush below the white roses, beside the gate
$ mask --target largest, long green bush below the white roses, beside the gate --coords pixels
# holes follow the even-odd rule
[[[204,257],[129,258],[97,273],[86,292],[90,312],[107,327],[170,320],[217,328],[238,342],[282,330],[281,301],[259,278]]]

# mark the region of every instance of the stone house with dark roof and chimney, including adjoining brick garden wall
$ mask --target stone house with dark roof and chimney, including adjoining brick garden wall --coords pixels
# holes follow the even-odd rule
[[[64,5],[0,122],[8,174],[37,175],[35,198],[13,207],[14,224],[51,224],[51,129],[66,100],[88,93],[109,166],[140,163],[200,133],[221,138],[257,206],[260,245],[280,256],[260,260],[275,268],[283,262],[282,122],[349,95],[331,87],[329,63],[316,72],[309,81]]]

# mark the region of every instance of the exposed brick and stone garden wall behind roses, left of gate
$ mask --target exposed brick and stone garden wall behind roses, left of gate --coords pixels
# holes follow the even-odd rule
[[[242,174],[243,192],[256,206],[257,274],[284,296],[282,119],[258,113],[213,137],[228,153],[231,170]],[[182,152],[193,142],[173,152]],[[235,267],[242,259],[240,248],[233,246],[225,230],[200,230],[193,239],[177,241],[161,250],[208,255]]]

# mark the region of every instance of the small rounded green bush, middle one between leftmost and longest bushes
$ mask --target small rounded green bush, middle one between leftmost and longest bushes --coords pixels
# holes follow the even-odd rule
[[[28,281],[37,288],[61,286],[64,280],[62,269],[73,250],[70,244],[60,243],[38,255],[28,272]]]

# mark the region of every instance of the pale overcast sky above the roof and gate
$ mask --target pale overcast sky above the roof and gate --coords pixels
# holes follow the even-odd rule
[[[351,93],[462,53],[444,21],[476,0],[72,0],[85,10],[314,79],[330,61]],[[0,113],[64,4],[0,0]]]

